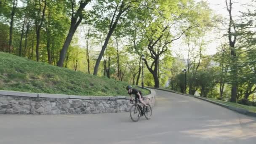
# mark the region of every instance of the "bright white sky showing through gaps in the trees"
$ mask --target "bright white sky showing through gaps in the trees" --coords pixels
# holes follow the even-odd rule
[[[197,2],[201,1],[201,0],[195,0]],[[213,10],[214,13],[221,15],[223,18],[228,18],[228,11],[226,8],[226,4],[225,4],[225,0],[204,0],[207,1],[209,3],[210,8]],[[229,1],[229,0],[228,0]],[[244,4],[246,3],[251,3],[252,0],[232,0],[232,2],[235,2],[233,4],[233,9],[232,9],[232,14],[234,16],[240,16],[240,11],[246,11],[246,8],[244,6]],[[87,5],[86,8],[90,9],[91,5]],[[84,32],[82,29],[77,29],[78,31],[80,31],[77,35],[79,38],[79,45],[82,47],[85,47],[85,41],[84,41]],[[209,44],[206,46],[205,51],[203,54],[205,55],[213,55],[217,52],[217,47],[219,47],[219,45],[221,44],[221,42],[225,41],[225,39],[219,39],[218,37],[221,37],[222,34],[218,34],[216,32],[211,32],[209,35],[207,35],[207,37],[205,37],[205,39],[207,41],[209,41]],[[225,37],[224,37],[225,38]],[[226,39],[227,40],[227,39]],[[101,49],[99,48],[95,48],[98,51]],[[185,45],[184,43],[182,43],[182,40],[176,40],[171,47],[171,51],[172,54],[174,56],[181,56],[183,58],[186,58],[187,56],[187,45]]]

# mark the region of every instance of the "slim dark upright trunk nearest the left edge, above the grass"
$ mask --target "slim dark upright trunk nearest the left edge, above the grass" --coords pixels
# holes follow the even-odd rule
[[[9,53],[12,51],[12,44],[13,44],[13,19],[14,19],[14,14],[16,11],[16,7],[18,4],[18,0],[13,0],[13,8],[11,11],[11,21],[10,21],[10,33],[9,33]]]

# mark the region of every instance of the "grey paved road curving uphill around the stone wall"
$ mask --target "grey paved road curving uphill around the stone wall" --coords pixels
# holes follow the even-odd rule
[[[153,117],[0,115],[0,144],[256,144],[256,118],[157,91]]]

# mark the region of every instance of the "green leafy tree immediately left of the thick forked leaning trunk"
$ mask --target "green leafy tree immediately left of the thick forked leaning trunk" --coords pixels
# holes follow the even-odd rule
[[[59,45],[63,44],[69,28],[69,17],[65,11],[66,7],[63,3],[48,2],[45,12],[43,43],[46,43],[49,64],[56,64],[55,61],[59,58],[59,51],[61,50]]]

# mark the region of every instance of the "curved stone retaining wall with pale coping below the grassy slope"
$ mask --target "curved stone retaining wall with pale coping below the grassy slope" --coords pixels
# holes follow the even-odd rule
[[[153,107],[155,91],[144,96]],[[134,96],[133,96],[134,98]],[[0,91],[0,114],[87,114],[128,112],[127,96],[72,96],[44,93]]]

